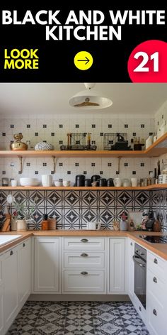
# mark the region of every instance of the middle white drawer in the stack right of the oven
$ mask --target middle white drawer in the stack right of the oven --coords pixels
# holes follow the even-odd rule
[[[150,270],[147,270],[147,287],[146,290],[152,293],[154,297],[159,301],[160,304],[167,307],[166,301],[166,284],[161,281],[159,277],[156,277],[154,273]]]

